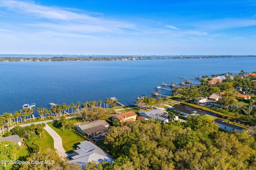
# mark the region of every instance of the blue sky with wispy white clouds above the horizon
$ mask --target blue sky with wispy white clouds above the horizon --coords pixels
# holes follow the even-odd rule
[[[0,0],[0,53],[256,55],[256,1]]]

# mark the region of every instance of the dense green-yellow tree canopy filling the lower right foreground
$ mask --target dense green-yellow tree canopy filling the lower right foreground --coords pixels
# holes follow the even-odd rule
[[[204,116],[186,123],[127,122],[104,141],[115,158],[106,170],[254,169],[256,141],[246,132],[218,131]]]

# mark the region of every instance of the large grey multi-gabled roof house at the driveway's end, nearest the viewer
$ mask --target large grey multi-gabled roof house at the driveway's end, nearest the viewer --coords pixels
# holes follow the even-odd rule
[[[97,161],[101,163],[102,161],[106,161],[109,163],[114,162],[114,158],[100,149],[96,145],[94,145],[90,141],[83,141],[77,145],[78,149],[76,149],[76,155],[70,157],[70,162],[77,162],[81,165],[85,165],[87,162]]]

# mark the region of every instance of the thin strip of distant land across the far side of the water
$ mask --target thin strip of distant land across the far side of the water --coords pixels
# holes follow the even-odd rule
[[[11,56],[11,55],[10,55]],[[34,55],[32,55],[34,56]],[[61,55],[60,55],[61,56]],[[63,55],[64,56],[64,55]],[[248,58],[256,55],[216,55],[216,56],[126,56],[126,57],[0,57],[0,62],[22,61],[127,61],[127,60],[161,60],[161,59],[220,59],[220,58]]]

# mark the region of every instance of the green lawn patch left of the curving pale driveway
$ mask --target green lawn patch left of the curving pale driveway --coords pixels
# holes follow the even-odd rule
[[[44,133],[42,133],[41,139],[40,139],[40,135],[36,135],[31,137],[30,141],[28,141],[28,139],[24,139],[24,140],[32,150],[40,149],[41,152],[44,152],[47,148],[54,150],[53,138],[50,136],[50,134],[46,130],[44,130]]]

